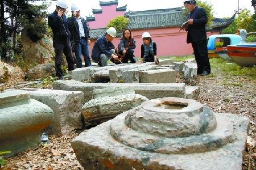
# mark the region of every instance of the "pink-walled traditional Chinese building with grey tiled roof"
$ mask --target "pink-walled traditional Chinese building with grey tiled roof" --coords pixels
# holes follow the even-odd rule
[[[105,34],[105,27],[109,20],[123,14],[122,16],[129,18],[127,28],[131,29],[136,40],[137,48],[135,48],[134,53],[136,57],[141,57],[141,37],[143,32],[149,32],[152,40],[156,42],[157,55],[159,57],[186,56],[193,53],[191,44],[186,42],[187,32],[179,31],[180,25],[187,20],[183,15],[183,7],[125,12],[127,5],[117,7],[118,0],[110,2],[100,1],[100,6],[102,10],[93,9],[94,17],[87,18],[92,39],[90,51],[92,51],[93,44],[97,38]],[[110,13],[112,14],[110,15]],[[234,18],[235,14],[230,19],[214,18],[212,20],[212,28],[207,27],[207,36],[220,34],[222,29],[227,28],[233,23]],[[105,20],[104,24],[102,20]],[[112,41],[115,46],[118,45],[121,35],[121,32],[117,33],[117,38]]]

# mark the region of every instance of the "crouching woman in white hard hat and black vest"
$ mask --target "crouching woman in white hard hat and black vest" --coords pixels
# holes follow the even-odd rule
[[[155,62],[158,65],[158,58],[156,57],[156,43],[152,41],[150,33],[143,32],[143,44],[141,45],[141,62]]]

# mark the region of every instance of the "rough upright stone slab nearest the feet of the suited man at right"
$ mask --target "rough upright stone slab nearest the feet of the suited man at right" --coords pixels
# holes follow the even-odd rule
[[[197,64],[193,62],[186,62],[183,66],[183,78],[186,83],[191,86],[195,86],[196,84],[196,74],[197,74]]]

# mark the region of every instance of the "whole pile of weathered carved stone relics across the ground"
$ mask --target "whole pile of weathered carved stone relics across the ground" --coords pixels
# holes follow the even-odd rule
[[[96,126],[72,142],[85,169],[241,169],[249,119],[213,113],[196,101],[199,87],[175,83],[175,72],[195,85],[195,60],[166,59],[82,67],[53,90],[5,90],[0,150],[14,155],[38,146],[42,131]]]

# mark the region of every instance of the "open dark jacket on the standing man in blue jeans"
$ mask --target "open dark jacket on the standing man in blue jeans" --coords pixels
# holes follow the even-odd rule
[[[68,19],[68,28],[69,32],[71,33],[71,41],[76,41],[80,39],[79,35],[79,23],[76,21],[76,16],[71,16]],[[81,17],[82,25],[84,26],[84,35],[85,35],[85,40],[87,41],[90,39],[90,34],[89,34],[89,28],[86,24],[86,20]]]

